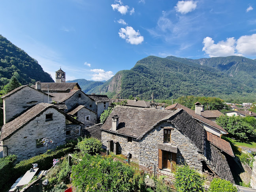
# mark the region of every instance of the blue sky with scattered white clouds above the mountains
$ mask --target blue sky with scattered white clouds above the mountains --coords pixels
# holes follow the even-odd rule
[[[55,77],[103,81],[149,55],[256,58],[254,0],[3,0],[0,34]]]

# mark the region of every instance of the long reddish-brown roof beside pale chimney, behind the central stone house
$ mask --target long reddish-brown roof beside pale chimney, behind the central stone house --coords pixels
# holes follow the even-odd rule
[[[194,117],[195,119],[204,122],[205,124],[208,124],[209,126],[212,126],[214,128],[216,128],[217,130],[220,130],[220,132],[222,132],[222,134],[228,134],[228,132],[226,132],[221,126],[217,125],[215,122],[206,119],[200,115],[197,115],[195,113],[194,110],[189,109],[188,107],[185,107],[184,105],[181,105],[179,103],[173,104],[173,105],[169,105],[168,107],[165,108],[165,110],[171,110],[171,109],[183,109],[185,110],[189,115],[191,115],[192,117]]]

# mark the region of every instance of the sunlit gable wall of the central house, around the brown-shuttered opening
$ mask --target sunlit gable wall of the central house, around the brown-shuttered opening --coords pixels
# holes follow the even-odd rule
[[[153,167],[154,164],[158,167],[158,148],[157,143],[164,143],[164,127],[171,126],[168,123],[162,123],[147,135],[145,135],[140,141],[140,156],[139,164],[145,167]],[[198,160],[198,149],[190,141],[190,139],[184,136],[179,130],[174,128],[171,130],[171,145],[178,148],[176,162],[177,164],[184,164],[186,162],[190,167],[202,172],[202,164]]]

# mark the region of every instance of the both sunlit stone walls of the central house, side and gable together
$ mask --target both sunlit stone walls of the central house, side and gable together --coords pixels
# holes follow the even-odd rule
[[[102,143],[105,147],[108,146],[107,140],[119,142],[119,153],[127,155],[127,151],[132,154],[132,159],[138,161],[141,166],[152,168],[154,164],[158,167],[158,143],[164,143],[164,127],[170,127],[169,123],[162,123],[152,129],[141,140],[137,141],[132,138],[132,142],[128,142],[127,136],[122,136],[116,133],[110,133],[102,130]],[[203,165],[198,160],[198,149],[184,136],[179,130],[174,128],[171,130],[171,143],[168,144],[177,147],[177,164],[185,162],[192,168],[202,172]]]

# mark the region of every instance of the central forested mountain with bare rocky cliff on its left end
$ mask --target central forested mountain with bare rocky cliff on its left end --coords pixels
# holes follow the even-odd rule
[[[118,72],[109,81],[89,91],[107,93],[110,97],[128,98],[130,95],[150,99],[179,96],[253,96],[254,89],[244,82],[212,67],[186,60],[148,56],[139,60],[131,70]],[[254,96],[255,98],[255,96]]]

